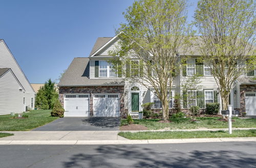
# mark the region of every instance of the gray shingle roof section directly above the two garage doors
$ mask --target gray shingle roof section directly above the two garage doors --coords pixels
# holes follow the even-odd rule
[[[58,86],[117,86],[124,85],[124,79],[90,79],[89,58],[74,58],[61,77]]]

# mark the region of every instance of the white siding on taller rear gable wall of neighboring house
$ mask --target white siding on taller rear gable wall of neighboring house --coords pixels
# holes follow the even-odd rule
[[[26,106],[31,107],[31,97],[35,98],[35,92],[4,41],[0,41],[0,68],[11,68],[18,81],[25,89],[24,97]],[[33,99],[33,101],[34,100],[35,99]]]

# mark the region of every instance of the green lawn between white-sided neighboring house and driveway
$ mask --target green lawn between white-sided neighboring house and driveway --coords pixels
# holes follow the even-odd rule
[[[12,119],[11,115],[0,116],[0,131],[28,131],[58,118],[51,117],[49,109],[32,110],[26,114],[29,117],[24,119]]]

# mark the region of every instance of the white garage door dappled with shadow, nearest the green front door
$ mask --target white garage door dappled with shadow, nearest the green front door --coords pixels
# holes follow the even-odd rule
[[[119,94],[94,94],[94,117],[119,117]]]

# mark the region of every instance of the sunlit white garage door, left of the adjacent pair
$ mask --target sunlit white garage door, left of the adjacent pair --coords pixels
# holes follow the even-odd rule
[[[89,94],[67,94],[64,117],[89,117]]]

